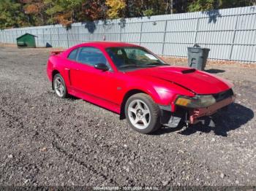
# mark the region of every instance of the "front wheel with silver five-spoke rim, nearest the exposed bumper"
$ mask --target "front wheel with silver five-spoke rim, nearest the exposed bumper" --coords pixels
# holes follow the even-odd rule
[[[124,109],[129,126],[140,133],[153,133],[161,127],[159,106],[145,93],[129,97]]]

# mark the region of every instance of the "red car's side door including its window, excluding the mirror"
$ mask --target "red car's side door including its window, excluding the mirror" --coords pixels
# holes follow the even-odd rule
[[[98,63],[109,67],[108,71],[95,69]],[[75,91],[116,103],[116,76],[105,55],[96,47],[80,47],[76,61],[72,61],[70,84]]]

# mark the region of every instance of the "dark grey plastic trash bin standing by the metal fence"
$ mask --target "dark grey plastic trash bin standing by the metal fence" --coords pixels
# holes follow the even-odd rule
[[[198,44],[194,47],[187,47],[189,67],[204,70],[210,49],[202,48]]]

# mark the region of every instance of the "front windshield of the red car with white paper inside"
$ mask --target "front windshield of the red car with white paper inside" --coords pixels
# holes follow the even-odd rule
[[[166,65],[141,47],[110,47],[106,51],[119,70]]]

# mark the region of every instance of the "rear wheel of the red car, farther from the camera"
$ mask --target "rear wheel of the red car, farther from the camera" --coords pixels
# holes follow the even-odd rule
[[[53,90],[58,98],[67,98],[67,87],[61,74],[56,74],[53,77]]]

